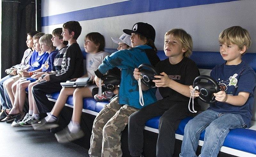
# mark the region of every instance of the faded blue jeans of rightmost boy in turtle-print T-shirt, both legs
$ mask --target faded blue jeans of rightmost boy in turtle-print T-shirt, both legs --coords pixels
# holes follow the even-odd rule
[[[180,156],[196,157],[200,133],[204,130],[204,145],[199,156],[217,156],[229,130],[245,127],[246,124],[240,114],[225,114],[206,110],[191,119],[186,125]]]

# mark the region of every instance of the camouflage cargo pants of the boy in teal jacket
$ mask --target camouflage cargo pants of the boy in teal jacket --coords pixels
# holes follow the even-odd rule
[[[118,97],[105,105],[93,122],[89,155],[122,156],[121,132],[128,124],[129,116],[137,110],[128,105],[119,105]]]

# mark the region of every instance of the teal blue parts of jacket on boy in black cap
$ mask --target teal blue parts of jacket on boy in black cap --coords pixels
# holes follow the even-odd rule
[[[152,49],[148,45],[139,45],[128,50],[119,50],[107,56],[102,64],[100,64],[95,74],[99,77],[105,74],[109,69],[118,67],[122,69],[121,82],[119,88],[119,103],[126,104],[135,108],[142,108],[139,102],[139,87],[138,81],[133,77],[134,68],[139,67],[141,64],[146,63],[151,65],[145,49]],[[156,60],[159,60],[155,54]],[[101,77],[100,76],[100,77]],[[144,106],[156,102],[156,88],[143,91]]]

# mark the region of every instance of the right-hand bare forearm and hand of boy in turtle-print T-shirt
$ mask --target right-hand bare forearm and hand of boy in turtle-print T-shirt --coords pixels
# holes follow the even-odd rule
[[[218,93],[214,93],[215,100],[220,102],[226,102],[234,106],[243,106],[249,98],[249,92],[239,92],[238,95],[228,95],[225,91],[221,90]]]

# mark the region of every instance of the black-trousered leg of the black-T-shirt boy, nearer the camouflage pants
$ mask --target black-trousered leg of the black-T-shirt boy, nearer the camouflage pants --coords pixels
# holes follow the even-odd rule
[[[129,116],[128,145],[132,156],[139,156],[143,152],[143,131],[145,123],[169,109],[169,105],[162,105],[160,101],[145,106]]]

